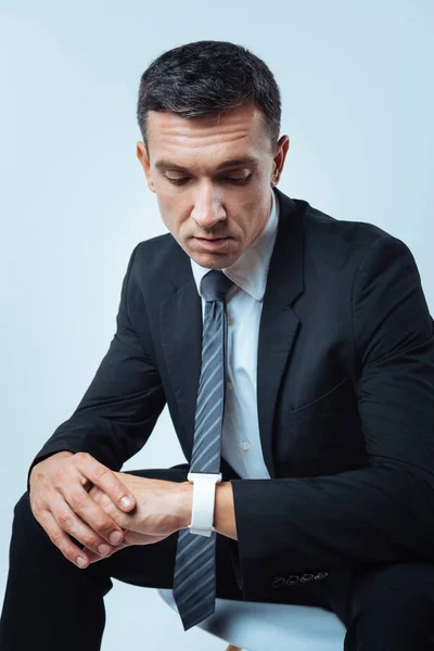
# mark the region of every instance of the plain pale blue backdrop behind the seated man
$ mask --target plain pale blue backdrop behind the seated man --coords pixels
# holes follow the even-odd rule
[[[28,465],[106,353],[133,246],[167,232],[136,158],[149,63],[202,39],[263,58],[291,138],[279,188],[403,239],[433,314],[433,17],[432,0],[0,2],[1,592]],[[182,461],[166,408],[123,470]],[[152,589],[114,579],[105,607],[103,651],[226,648]]]

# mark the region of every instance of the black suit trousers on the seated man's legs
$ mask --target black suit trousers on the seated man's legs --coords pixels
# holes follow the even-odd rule
[[[188,464],[125,472],[183,482]],[[128,547],[80,570],[38,526],[26,492],[14,508],[1,651],[99,651],[111,579],[171,588],[177,538],[175,533],[154,545]],[[219,534],[216,576],[217,597],[242,600],[228,538]],[[347,630],[345,651],[434,650],[434,565],[429,562],[339,570],[323,580],[277,589],[272,601],[336,613]]]

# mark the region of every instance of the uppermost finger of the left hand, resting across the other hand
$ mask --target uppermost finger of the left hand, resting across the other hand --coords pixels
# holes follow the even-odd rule
[[[106,493],[116,507],[122,511],[130,511],[136,507],[132,493],[128,490],[110,468],[97,461],[88,452],[77,452],[74,457],[77,468],[85,477]],[[129,502],[127,503],[124,500],[129,500]]]

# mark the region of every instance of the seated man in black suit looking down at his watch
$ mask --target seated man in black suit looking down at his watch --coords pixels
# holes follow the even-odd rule
[[[142,76],[138,120],[170,232],[135,247],[107,354],[30,465],[2,651],[99,649],[111,577],[173,587],[181,535],[212,553],[215,541],[219,597],[332,610],[348,651],[432,649],[434,336],[411,252],[276,188],[279,89],[244,48],[165,52]],[[207,297],[210,277],[225,298]],[[214,409],[213,315],[227,375],[208,537],[188,529],[201,499],[188,475]],[[188,462],[118,472],[166,401]],[[212,585],[213,563],[204,575]]]

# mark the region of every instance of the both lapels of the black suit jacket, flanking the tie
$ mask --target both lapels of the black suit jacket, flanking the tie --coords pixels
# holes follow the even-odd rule
[[[257,407],[264,460],[271,477],[273,416],[284,368],[299,321],[290,305],[303,292],[303,230],[296,204],[275,188],[280,216],[270,259],[259,323]],[[195,406],[201,374],[202,305],[189,256],[176,243],[171,282],[176,291],[159,304],[159,328],[167,370],[179,412],[193,445]]]

